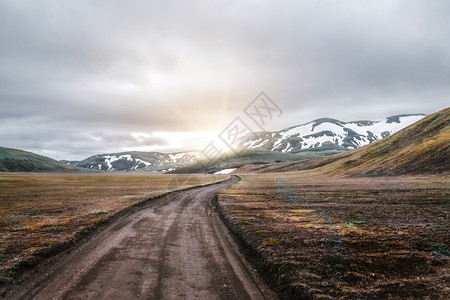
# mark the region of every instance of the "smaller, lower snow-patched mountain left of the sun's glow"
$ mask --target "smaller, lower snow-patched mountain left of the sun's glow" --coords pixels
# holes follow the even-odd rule
[[[151,171],[165,172],[191,164],[198,152],[122,152],[99,154],[79,162],[66,161],[67,164],[92,170],[108,172]]]

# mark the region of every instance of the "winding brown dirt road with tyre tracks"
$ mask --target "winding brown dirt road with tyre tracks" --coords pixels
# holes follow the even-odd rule
[[[214,212],[215,193],[237,181],[149,203],[52,259],[7,298],[274,298]]]

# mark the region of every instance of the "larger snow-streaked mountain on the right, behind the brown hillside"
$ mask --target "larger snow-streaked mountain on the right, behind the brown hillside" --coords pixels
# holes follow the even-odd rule
[[[390,136],[424,117],[424,114],[397,115],[381,121],[353,122],[322,118],[280,131],[247,134],[235,146],[290,153],[307,149],[355,149]]]

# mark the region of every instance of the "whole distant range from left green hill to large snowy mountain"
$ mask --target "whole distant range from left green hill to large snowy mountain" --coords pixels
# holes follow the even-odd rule
[[[230,157],[229,161],[221,162],[220,166],[240,167],[246,163],[271,164],[336,154],[388,137],[424,117],[423,114],[411,114],[392,116],[382,121],[354,122],[323,118],[280,131],[256,132],[244,136],[234,145],[245,149],[246,152]],[[295,153],[302,154],[292,156]],[[130,151],[98,154],[81,161],[57,162],[31,152],[0,147],[0,172],[76,170],[171,172],[177,169],[201,172],[202,164],[197,162],[199,156],[200,152],[196,151],[176,153]],[[204,171],[214,172],[214,169]]]

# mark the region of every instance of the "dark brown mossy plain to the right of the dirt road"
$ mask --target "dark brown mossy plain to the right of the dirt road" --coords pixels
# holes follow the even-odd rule
[[[249,174],[220,213],[285,299],[450,297],[450,177]]]

